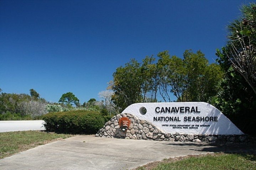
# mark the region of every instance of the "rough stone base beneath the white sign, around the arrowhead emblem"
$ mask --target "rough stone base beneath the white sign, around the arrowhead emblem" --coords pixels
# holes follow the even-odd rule
[[[130,126],[126,132],[122,132],[119,126],[119,119],[127,117],[130,119]],[[208,135],[208,134],[181,134],[164,133],[158,127],[147,120],[140,120],[132,114],[118,114],[111,118],[96,137],[125,138],[137,140],[156,140],[174,142],[203,142],[203,143],[255,143],[255,139],[248,135]]]

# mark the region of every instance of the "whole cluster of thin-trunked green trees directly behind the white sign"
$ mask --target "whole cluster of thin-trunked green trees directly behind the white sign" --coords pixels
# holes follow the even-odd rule
[[[146,56],[142,63],[132,59],[116,69],[109,88],[114,91],[112,100],[119,112],[133,103],[157,101],[157,94],[165,102],[171,102],[171,95],[178,102],[208,102],[216,96],[223,74],[201,51],[186,50],[184,59],[170,56],[168,51],[157,56],[157,63]]]

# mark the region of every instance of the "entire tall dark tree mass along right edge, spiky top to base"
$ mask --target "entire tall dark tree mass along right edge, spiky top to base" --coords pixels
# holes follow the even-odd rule
[[[228,42],[216,50],[224,71],[214,106],[244,133],[255,135],[256,3],[243,5],[242,16],[228,26]]]

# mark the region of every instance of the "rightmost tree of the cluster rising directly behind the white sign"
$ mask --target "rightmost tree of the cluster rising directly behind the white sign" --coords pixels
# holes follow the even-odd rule
[[[183,56],[188,84],[187,101],[208,102],[219,90],[219,82],[223,77],[220,66],[209,64],[200,50],[196,53],[186,50]]]

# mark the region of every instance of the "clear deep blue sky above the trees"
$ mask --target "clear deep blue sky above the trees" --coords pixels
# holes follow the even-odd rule
[[[117,67],[168,50],[214,62],[244,0],[0,0],[0,88],[98,97]]]

